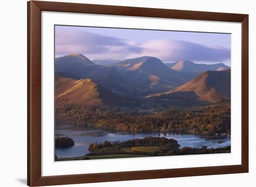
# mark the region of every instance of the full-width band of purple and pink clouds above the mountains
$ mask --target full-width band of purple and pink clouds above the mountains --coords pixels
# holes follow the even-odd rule
[[[181,40],[149,40],[144,44],[81,30],[55,30],[56,56],[82,53],[89,59],[125,60],[154,56],[162,61],[191,60],[196,62],[229,62],[230,49],[204,46]]]

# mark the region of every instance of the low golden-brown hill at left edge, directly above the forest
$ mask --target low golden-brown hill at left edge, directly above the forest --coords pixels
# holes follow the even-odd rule
[[[87,104],[94,106],[125,105],[127,100],[101,87],[91,79],[74,80],[55,75],[55,104]]]

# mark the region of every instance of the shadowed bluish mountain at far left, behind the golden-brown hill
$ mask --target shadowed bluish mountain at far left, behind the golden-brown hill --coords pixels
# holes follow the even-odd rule
[[[61,73],[66,78],[92,79],[107,89],[115,89],[125,84],[115,67],[96,65],[82,54],[68,54],[56,58],[55,72],[68,72],[68,75]]]

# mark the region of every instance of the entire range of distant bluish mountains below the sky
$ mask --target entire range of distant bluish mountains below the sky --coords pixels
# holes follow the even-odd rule
[[[83,54],[73,53],[55,59],[55,73],[76,80],[92,79],[113,93],[130,96],[171,90],[200,74],[197,67],[225,70],[221,63],[195,64],[189,60],[169,64],[172,68],[167,65],[156,57],[143,56],[103,66],[94,64]]]

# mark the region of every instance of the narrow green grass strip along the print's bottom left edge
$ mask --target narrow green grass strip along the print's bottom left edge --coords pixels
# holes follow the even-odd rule
[[[59,158],[55,161],[68,161],[68,160],[83,160],[83,158],[89,158],[90,160],[96,159],[121,159],[121,158],[134,158],[134,157],[146,157],[147,155],[132,155],[132,154],[106,154],[97,156],[80,156],[80,157],[70,157],[70,158]]]

